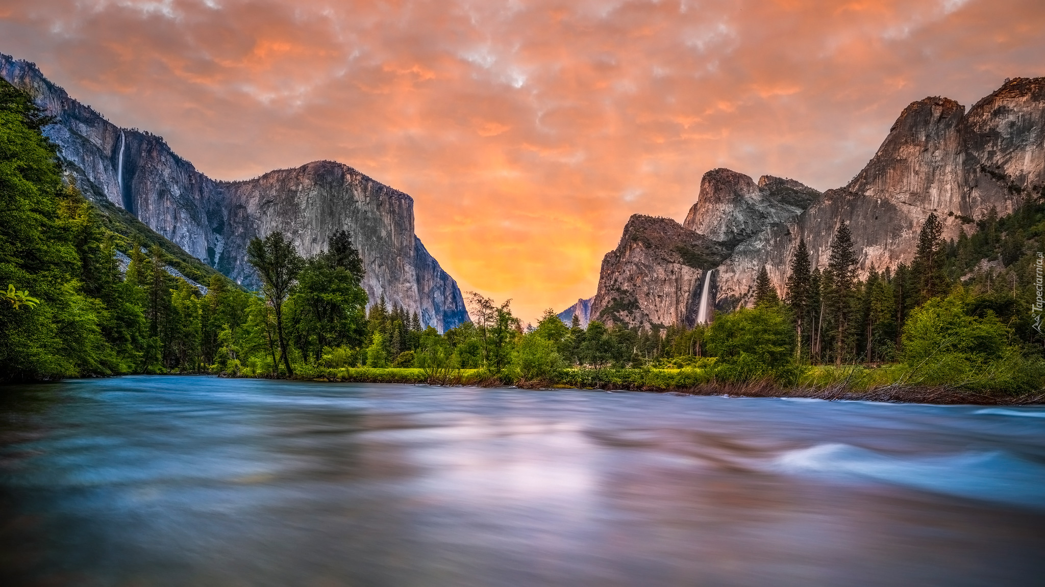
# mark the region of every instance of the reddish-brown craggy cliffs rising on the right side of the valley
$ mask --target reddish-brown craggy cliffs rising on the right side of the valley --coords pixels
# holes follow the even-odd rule
[[[714,169],[701,180],[683,227],[642,221],[644,234],[661,233],[657,251],[692,243],[693,235],[706,239],[701,250],[706,258],[722,257],[707,267],[712,279],[684,271],[686,263],[670,255],[636,252],[637,216],[632,216],[621,244],[603,260],[591,316],[631,326],[692,326],[693,296],[702,280],[720,310],[751,302],[763,265],[783,294],[799,238],[814,265],[822,266],[835,230],[849,222],[859,273],[866,276],[872,265],[909,263],[930,213],[944,222],[945,238],[953,238],[962,229],[975,231],[974,219],[991,208],[1012,212],[1025,194],[1043,189],[1045,78],[1006,79],[968,113],[949,98],[928,97],[904,109],[872,160],[844,187],[819,193],[793,180],[763,177],[756,184],[743,173]]]

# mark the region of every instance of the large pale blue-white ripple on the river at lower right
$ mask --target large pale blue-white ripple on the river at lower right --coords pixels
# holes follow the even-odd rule
[[[1045,509],[1045,466],[1005,452],[900,459],[847,444],[818,444],[782,454],[775,468],[870,478],[924,491]]]

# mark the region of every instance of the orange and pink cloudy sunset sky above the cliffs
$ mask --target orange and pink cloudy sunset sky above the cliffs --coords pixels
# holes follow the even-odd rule
[[[1045,75],[1041,0],[0,0],[0,52],[211,178],[315,160],[414,197],[524,321],[728,167],[844,185],[926,96]]]

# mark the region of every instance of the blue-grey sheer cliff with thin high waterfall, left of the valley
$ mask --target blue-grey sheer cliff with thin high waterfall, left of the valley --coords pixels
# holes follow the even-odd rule
[[[44,131],[85,195],[125,210],[236,282],[259,283],[247,263],[254,237],[283,231],[305,256],[336,230],[352,233],[376,303],[418,312],[440,331],[468,320],[457,282],[414,233],[414,201],[341,163],[317,161],[241,182],[208,178],[162,137],[120,128],[47,80],[36,65],[0,54],[0,75],[55,118]]]

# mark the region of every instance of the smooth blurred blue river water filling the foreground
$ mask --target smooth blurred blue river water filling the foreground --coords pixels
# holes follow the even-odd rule
[[[0,389],[3,585],[1045,585],[1045,407]]]

